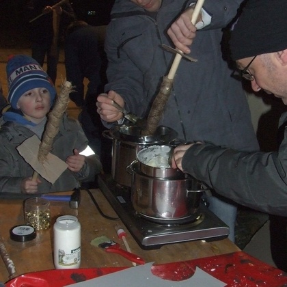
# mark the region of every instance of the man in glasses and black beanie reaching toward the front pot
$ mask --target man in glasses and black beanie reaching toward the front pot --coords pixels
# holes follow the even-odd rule
[[[250,81],[254,92],[264,90],[267,94],[274,94],[285,105],[286,27],[286,0],[249,0],[230,40],[232,58],[241,76]],[[287,113],[283,113],[279,131],[284,132],[286,126]],[[271,248],[277,267],[286,271],[286,135],[279,141],[277,152],[239,152],[210,143],[178,146],[174,150],[173,166],[206,182],[217,193],[239,204],[271,214],[271,223],[277,219],[276,228],[271,224]]]

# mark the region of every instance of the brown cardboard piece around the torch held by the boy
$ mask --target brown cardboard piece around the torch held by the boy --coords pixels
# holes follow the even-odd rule
[[[68,165],[50,152],[46,161],[40,163],[38,161],[40,143],[40,139],[38,139],[36,135],[33,135],[32,137],[29,137],[29,139],[23,141],[23,143],[17,147],[17,150],[23,159],[25,159],[38,174],[53,184],[66,170]]]

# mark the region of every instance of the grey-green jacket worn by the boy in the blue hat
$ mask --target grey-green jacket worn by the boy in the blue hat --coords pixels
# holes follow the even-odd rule
[[[33,175],[33,169],[26,163],[16,150],[25,139],[35,135],[29,128],[16,122],[5,122],[0,128],[0,194],[20,193],[20,183],[24,178]],[[82,151],[87,147],[87,138],[79,122],[64,115],[59,132],[57,133],[52,154],[62,161],[73,154],[74,148]],[[38,193],[53,191],[71,191],[79,187],[80,182],[94,181],[96,174],[101,171],[102,165],[98,156],[87,156],[81,172],[71,172],[66,169],[52,185],[39,175],[41,184],[38,184]]]

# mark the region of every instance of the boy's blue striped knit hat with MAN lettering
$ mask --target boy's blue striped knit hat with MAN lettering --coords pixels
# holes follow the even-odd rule
[[[27,55],[10,57],[6,66],[8,79],[8,102],[17,109],[17,102],[25,92],[36,87],[45,87],[51,95],[51,102],[56,96],[55,86],[40,64]]]

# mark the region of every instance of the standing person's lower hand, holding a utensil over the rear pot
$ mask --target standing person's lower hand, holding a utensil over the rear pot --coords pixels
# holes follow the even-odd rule
[[[121,107],[124,107],[124,99],[118,93],[109,91],[108,94],[98,95],[97,100],[96,111],[102,120],[106,122],[116,122],[123,118],[124,115],[112,105],[112,100],[115,100]]]

